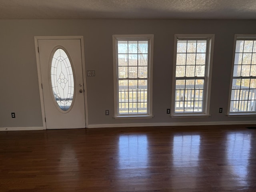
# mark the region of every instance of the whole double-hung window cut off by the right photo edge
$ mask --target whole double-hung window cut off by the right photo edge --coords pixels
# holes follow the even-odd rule
[[[256,114],[256,35],[235,35],[229,114]]]

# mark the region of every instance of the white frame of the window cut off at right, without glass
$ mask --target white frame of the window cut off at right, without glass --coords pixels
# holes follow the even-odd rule
[[[233,59],[232,59],[232,70],[231,70],[231,77],[230,77],[230,90],[229,90],[229,98],[228,98],[228,116],[255,116],[256,111],[238,111],[238,112],[230,112],[230,105],[231,105],[231,97],[232,97],[232,83],[234,78],[234,65],[235,65],[235,55],[236,55],[236,41],[237,40],[256,40],[256,34],[235,34],[234,35],[234,48],[233,48]],[[243,52],[244,53],[244,52]],[[241,76],[242,77],[242,76]],[[243,76],[244,78],[256,78],[256,76]]]

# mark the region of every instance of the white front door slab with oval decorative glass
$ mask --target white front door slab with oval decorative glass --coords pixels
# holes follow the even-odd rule
[[[85,128],[82,39],[36,40],[46,128]]]

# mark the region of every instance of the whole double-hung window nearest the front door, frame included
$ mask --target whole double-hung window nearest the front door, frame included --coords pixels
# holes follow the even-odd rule
[[[153,35],[113,35],[116,118],[152,117]]]

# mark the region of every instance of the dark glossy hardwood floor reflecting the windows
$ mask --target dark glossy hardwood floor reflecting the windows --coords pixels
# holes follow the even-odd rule
[[[0,132],[0,191],[256,192],[256,129],[246,127]]]

